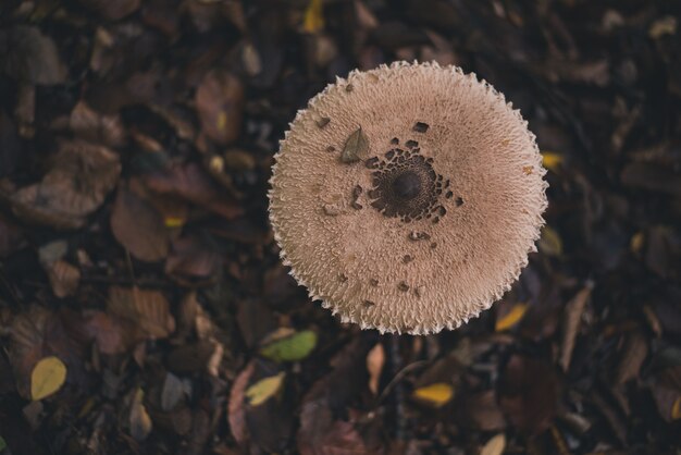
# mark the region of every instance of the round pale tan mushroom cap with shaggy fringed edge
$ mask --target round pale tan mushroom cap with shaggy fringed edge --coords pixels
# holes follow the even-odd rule
[[[285,265],[343,322],[454,329],[502,297],[547,206],[535,137],[490,84],[397,62],[300,110],[270,181]]]

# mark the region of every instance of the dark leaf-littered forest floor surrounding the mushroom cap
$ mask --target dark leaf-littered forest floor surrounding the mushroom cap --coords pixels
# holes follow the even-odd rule
[[[680,454],[681,3],[3,0],[0,454]],[[278,259],[288,122],[435,60],[548,169],[520,280],[381,335]]]

